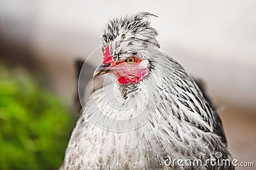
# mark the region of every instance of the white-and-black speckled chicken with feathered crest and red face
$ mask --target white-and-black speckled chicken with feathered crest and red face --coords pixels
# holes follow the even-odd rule
[[[61,169],[234,169],[208,161],[232,160],[221,119],[184,68],[161,52],[149,17],[156,15],[108,22],[94,76],[115,79],[88,97]]]

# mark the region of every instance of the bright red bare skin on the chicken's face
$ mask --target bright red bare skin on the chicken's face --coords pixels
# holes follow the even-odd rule
[[[149,73],[149,67],[140,66],[141,59],[139,58],[134,57],[135,60],[132,63],[125,62],[125,60],[120,62],[113,60],[109,53],[109,46],[106,46],[103,56],[102,64],[110,64],[108,67],[113,70],[121,84],[137,83]]]

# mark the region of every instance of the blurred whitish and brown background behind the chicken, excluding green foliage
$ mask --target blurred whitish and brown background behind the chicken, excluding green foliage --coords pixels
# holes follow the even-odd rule
[[[218,107],[225,107],[220,115],[234,157],[255,161],[254,0],[1,0],[1,50],[6,54],[12,46],[26,49],[12,52],[12,62],[22,58],[36,63],[52,89],[72,105],[77,90],[75,60],[85,60],[101,45],[109,18],[139,11],[158,16],[152,18],[152,25],[159,31],[161,50],[204,80]],[[19,55],[21,51],[25,55]],[[102,56],[92,64],[97,66],[100,60]]]

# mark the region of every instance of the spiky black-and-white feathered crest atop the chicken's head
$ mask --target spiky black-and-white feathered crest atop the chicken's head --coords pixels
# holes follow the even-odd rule
[[[159,46],[156,40],[157,31],[150,27],[150,17],[157,17],[148,12],[140,12],[131,16],[123,16],[109,20],[102,35],[102,47],[105,48],[118,36],[128,39],[137,39]],[[127,37],[129,36],[129,37]]]

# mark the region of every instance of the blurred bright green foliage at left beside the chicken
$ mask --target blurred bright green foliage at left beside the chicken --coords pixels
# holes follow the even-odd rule
[[[74,117],[22,70],[0,66],[0,169],[58,169]]]

